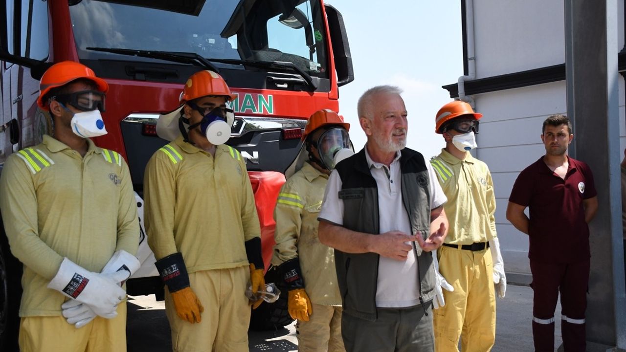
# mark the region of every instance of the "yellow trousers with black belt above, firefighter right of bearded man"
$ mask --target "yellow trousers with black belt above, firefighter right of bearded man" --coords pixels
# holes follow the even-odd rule
[[[496,297],[490,249],[465,251],[442,246],[437,250],[439,272],[454,286],[443,290],[446,304],[434,309],[435,351],[490,351],[496,339]]]

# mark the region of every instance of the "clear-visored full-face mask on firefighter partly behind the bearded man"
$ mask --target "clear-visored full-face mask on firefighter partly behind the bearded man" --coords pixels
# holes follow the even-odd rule
[[[341,160],[354,155],[350,146],[348,133],[341,127],[333,127],[326,130],[317,138],[317,143],[314,145],[319,153],[319,163],[327,170],[332,170]],[[314,160],[310,150],[309,158],[312,158],[315,162],[318,161]]]

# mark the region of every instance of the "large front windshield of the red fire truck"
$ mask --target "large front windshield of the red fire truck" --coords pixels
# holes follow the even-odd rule
[[[216,66],[225,68],[244,66],[218,60],[282,61],[310,76],[328,77],[319,0],[70,0],[69,4],[81,60],[160,61],[87,48],[178,51],[215,59]]]

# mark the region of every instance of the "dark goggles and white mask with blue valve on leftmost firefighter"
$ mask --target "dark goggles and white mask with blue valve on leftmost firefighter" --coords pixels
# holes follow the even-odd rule
[[[83,138],[106,135],[105,122],[102,120],[101,111],[105,111],[105,94],[101,91],[83,90],[71,94],[56,95],[51,97],[56,100],[73,117],[69,123],[72,132]],[[83,112],[74,113],[66,105]]]

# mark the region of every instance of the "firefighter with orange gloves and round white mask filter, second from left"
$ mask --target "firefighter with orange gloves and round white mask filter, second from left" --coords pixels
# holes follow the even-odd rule
[[[165,291],[173,351],[248,351],[245,290],[264,289],[259,217],[245,161],[224,145],[234,95],[199,71],[156,130],[172,143],[146,166],[148,244]],[[259,299],[254,308],[262,303]]]

